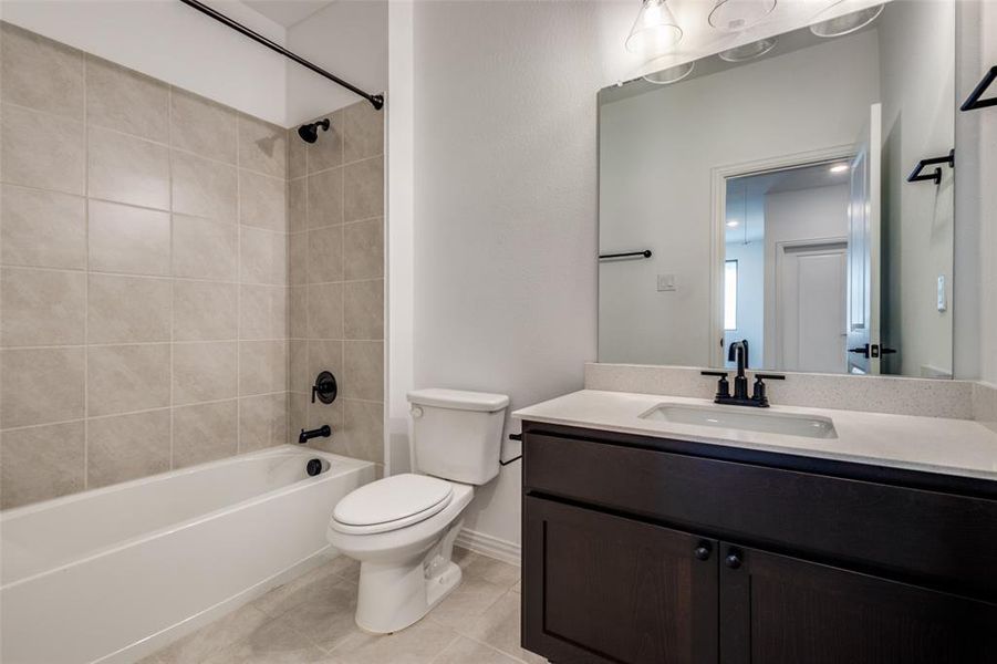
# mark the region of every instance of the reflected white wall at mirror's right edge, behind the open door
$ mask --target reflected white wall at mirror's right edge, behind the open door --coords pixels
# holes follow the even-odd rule
[[[893,374],[952,374],[952,307],[937,310],[937,279],[952,293],[954,172],[908,184],[918,159],[955,146],[955,10],[948,2],[892,2],[880,27],[883,84],[882,340]]]

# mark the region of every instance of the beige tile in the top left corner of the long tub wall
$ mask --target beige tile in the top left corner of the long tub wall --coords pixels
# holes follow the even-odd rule
[[[10,23],[0,25],[0,98],[83,118],[83,53]]]

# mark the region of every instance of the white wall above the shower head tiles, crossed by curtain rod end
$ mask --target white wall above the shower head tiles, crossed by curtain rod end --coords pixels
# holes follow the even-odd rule
[[[387,91],[387,0],[337,0],[288,29],[288,49],[370,94]],[[356,102],[354,93],[288,63],[288,126]]]

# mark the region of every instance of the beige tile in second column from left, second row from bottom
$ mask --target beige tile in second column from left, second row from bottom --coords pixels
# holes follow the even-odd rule
[[[90,346],[86,396],[91,416],[169,405],[169,344]]]

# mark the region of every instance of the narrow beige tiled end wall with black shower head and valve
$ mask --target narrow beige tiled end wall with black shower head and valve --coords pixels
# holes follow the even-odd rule
[[[289,129],[291,434],[329,424],[311,445],[384,463],[384,113],[330,113],[313,144]],[[319,372],[339,398],[310,403]]]

